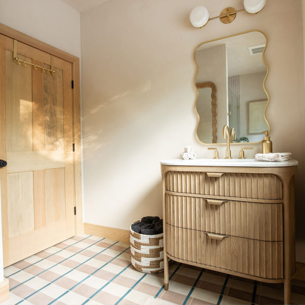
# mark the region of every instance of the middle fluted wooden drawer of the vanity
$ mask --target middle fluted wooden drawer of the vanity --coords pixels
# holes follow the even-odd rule
[[[283,241],[282,203],[165,195],[166,222],[175,227],[265,241]]]

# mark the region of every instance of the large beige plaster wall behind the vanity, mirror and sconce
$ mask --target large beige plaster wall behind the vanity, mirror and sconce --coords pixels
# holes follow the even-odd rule
[[[204,1],[212,17],[227,4]],[[257,15],[242,12],[231,24],[212,20],[201,29],[189,22],[201,0],[111,0],[81,14],[85,222],[128,229],[142,216],[161,216],[159,161],[177,158],[187,144],[200,158],[212,156],[195,138],[195,47],[260,29],[268,38],[271,140],[274,151],[291,151],[300,162],[297,233],[305,242],[302,11],[300,0],[289,4],[268,0]],[[230,6],[243,7],[241,0]],[[232,148],[234,158],[239,147]],[[247,156],[259,152],[256,144]],[[305,260],[299,246],[297,258]]]

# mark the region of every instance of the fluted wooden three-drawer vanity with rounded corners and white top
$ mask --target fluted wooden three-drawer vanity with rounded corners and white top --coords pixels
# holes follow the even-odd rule
[[[261,282],[283,282],[289,304],[297,162],[208,166],[208,161],[196,161],[161,162],[165,257]],[[165,289],[168,276],[164,260]]]

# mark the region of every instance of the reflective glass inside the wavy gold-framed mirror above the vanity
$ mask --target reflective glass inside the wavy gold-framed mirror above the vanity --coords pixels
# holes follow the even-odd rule
[[[250,31],[200,44],[198,65],[197,138],[203,143],[225,143],[224,125],[235,129],[232,142],[259,142],[269,130],[265,119],[268,73],[263,60],[267,39]]]

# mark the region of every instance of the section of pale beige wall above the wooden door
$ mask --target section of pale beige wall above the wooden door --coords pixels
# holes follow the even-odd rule
[[[80,57],[80,14],[62,0],[0,0],[0,23]]]

